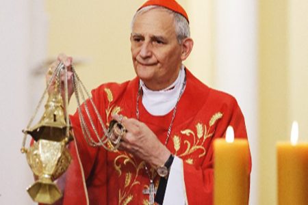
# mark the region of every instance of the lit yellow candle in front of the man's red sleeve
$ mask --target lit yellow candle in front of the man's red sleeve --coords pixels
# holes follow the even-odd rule
[[[246,139],[234,139],[233,128],[226,139],[214,141],[214,204],[248,204],[249,149]]]

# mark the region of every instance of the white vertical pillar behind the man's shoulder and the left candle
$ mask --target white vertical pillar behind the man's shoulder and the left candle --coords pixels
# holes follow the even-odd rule
[[[244,113],[253,160],[249,204],[258,204],[257,1],[217,0],[214,13],[214,84],[235,96]]]

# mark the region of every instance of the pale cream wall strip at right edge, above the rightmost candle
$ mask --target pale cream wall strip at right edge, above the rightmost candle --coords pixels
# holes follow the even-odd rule
[[[290,1],[288,37],[290,59],[289,129],[293,120],[299,124],[299,141],[308,141],[308,1]],[[290,137],[289,133],[285,139]]]

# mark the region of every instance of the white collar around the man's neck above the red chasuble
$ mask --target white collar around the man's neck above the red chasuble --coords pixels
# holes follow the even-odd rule
[[[185,81],[185,67],[182,65],[179,71],[179,76],[170,86],[164,90],[153,91],[144,85],[144,82],[140,79],[140,85],[142,87],[142,104],[146,111],[151,115],[161,116],[169,113],[177,104],[177,98],[181,92],[183,82]],[[172,88],[174,87],[174,88]],[[170,89],[172,88],[172,89]]]

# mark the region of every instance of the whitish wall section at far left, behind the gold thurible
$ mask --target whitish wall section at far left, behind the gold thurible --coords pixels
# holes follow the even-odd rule
[[[44,55],[40,1],[2,0],[0,7],[0,204],[34,204],[26,188],[33,182],[21,154],[22,129],[34,111],[31,68]],[[33,87],[32,87],[33,88]],[[37,100],[36,100],[37,102]]]

